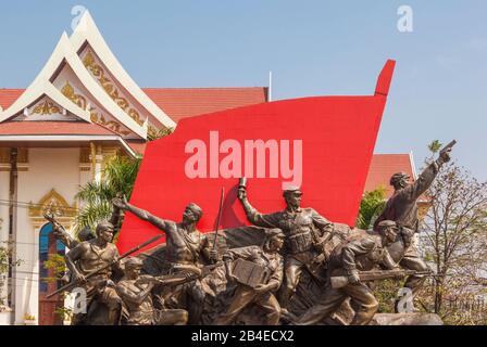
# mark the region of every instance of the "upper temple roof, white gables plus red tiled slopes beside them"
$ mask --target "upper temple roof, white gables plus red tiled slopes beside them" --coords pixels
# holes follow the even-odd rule
[[[125,141],[137,142],[157,136],[159,130],[174,128],[185,117],[266,102],[266,88],[142,90],[112,53],[86,11],[71,36],[61,35],[30,86],[0,89],[0,124],[84,120],[98,124]]]

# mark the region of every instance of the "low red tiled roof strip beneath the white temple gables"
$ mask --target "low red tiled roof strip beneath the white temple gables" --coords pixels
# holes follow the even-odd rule
[[[78,121],[4,121],[0,124],[0,136],[15,134],[95,134],[115,133],[96,124]]]

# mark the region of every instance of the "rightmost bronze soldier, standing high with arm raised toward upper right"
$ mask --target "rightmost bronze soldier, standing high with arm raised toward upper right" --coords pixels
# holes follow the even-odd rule
[[[415,237],[420,224],[417,217],[417,198],[425,193],[433,183],[441,166],[450,160],[450,152],[453,144],[454,141],[441,150],[439,157],[426,167],[415,182],[410,183],[410,177],[404,172],[395,174],[390,178],[390,185],[394,187],[395,192],[387,201],[384,211],[376,219],[374,229],[376,229],[384,220],[394,220],[398,224],[401,236],[404,240],[405,250],[402,259],[400,259],[400,261],[399,259],[397,260],[404,269],[415,270],[420,273],[429,270],[429,267],[419,255]],[[404,287],[410,288],[413,295],[415,295],[425,279],[426,277],[422,274],[410,275],[405,280]]]

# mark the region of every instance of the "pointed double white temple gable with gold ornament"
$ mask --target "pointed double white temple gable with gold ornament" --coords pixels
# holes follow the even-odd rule
[[[88,11],[71,37],[61,35],[30,86],[2,90],[0,99],[0,123],[85,120],[125,140],[176,125],[125,72]]]

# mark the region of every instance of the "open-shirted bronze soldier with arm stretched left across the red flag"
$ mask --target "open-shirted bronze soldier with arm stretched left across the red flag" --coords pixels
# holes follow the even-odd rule
[[[190,203],[186,206],[180,222],[153,216],[147,210],[127,203],[125,198],[114,198],[113,204],[123,210],[133,213],[142,220],[149,221],[166,234],[165,261],[168,267],[168,273],[177,272],[182,265],[199,266],[201,258],[210,262],[216,261],[216,252],[212,249],[207,236],[197,229],[197,223],[203,215],[202,209],[197,204]],[[182,297],[184,294],[187,294],[190,300],[187,304],[189,311],[188,323],[197,324],[200,320],[202,303],[204,301],[204,291],[201,287],[201,282],[197,280],[185,284],[184,287],[179,287],[179,295],[173,297]]]

